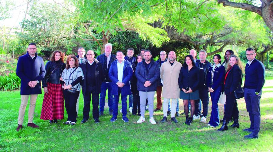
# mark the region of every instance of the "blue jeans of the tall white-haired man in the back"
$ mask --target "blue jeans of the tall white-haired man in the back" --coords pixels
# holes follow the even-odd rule
[[[114,99],[113,99],[113,95],[111,94],[112,82],[109,82],[109,83],[103,82],[101,84],[100,95],[99,95],[99,111],[104,111],[106,89],[108,89],[109,111],[113,111],[113,100]]]

